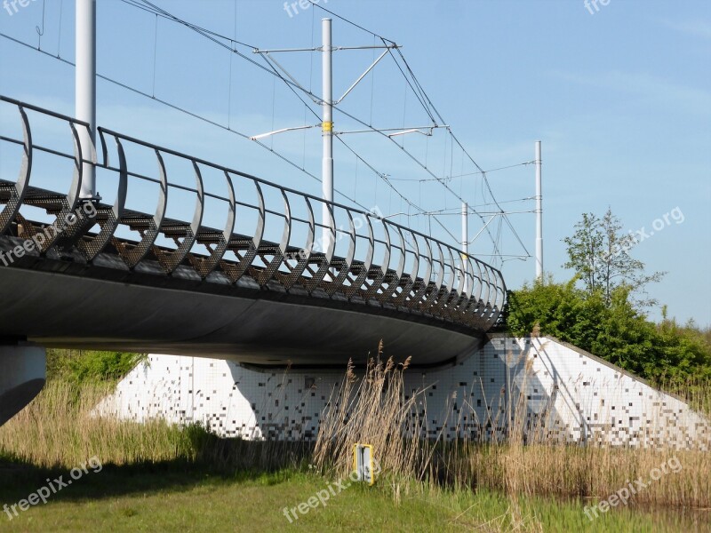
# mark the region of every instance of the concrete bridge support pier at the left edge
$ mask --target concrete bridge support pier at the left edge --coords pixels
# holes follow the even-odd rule
[[[0,426],[44,387],[46,351],[28,344],[0,345]]]

